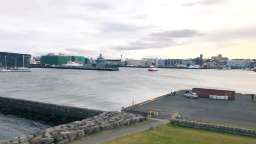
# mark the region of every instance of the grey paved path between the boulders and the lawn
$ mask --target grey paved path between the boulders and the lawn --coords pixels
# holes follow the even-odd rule
[[[164,122],[164,121],[150,120],[148,123],[145,123],[143,125],[136,125],[131,128],[125,128],[125,129],[117,130],[111,133],[102,134],[99,136],[95,136],[91,139],[86,139],[85,141],[77,142],[76,144],[101,144],[104,141],[110,141],[112,139],[116,139],[121,136],[126,136],[132,133],[147,130],[150,128],[150,126],[153,126],[155,128],[157,126],[164,125],[166,123],[167,122]]]

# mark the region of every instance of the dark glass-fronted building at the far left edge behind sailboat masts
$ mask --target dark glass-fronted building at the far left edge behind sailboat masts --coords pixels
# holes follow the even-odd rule
[[[28,67],[30,64],[31,55],[21,54],[21,53],[6,53],[0,52],[0,67],[5,65],[5,56],[7,67],[23,67],[23,56],[24,56],[24,66]]]

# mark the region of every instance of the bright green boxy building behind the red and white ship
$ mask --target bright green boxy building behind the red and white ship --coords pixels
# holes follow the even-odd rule
[[[87,64],[87,58],[83,56],[58,56],[58,55],[46,55],[41,56],[40,64],[58,65],[67,64],[67,61],[80,61],[83,64]]]

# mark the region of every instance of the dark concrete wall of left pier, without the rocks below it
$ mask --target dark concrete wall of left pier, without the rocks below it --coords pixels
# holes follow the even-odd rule
[[[96,109],[85,109],[79,107],[69,107],[57,104],[48,104],[37,101],[29,101],[23,99],[13,99],[0,97],[0,108],[22,110],[27,112],[36,112],[43,115],[53,115],[60,117],[74,117],[77,119],[85,119],[93,117],[104,112]]]

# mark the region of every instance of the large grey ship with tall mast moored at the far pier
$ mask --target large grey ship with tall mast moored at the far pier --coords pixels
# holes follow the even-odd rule
[[[102,57],[102,54],[99,54],[99,57],[95,60],[94,63],[92,64],[85,64],[83,65],[83,67],[86,68],[92,68],[92,67],[97,67],[97,68],[118,68],[121,64],[116,64],[116,63],[112,63],[109,62],[107,60],[105,60]]]

